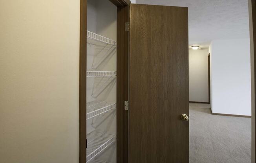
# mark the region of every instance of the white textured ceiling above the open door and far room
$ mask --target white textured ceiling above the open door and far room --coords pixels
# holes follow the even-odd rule
[[[248,0],[136,0],[137,4],[188,7],[189,44],[249,38]]]

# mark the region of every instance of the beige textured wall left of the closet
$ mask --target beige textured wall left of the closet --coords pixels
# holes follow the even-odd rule
[[[80,0],[0,0],[0,162],[78,163]]]

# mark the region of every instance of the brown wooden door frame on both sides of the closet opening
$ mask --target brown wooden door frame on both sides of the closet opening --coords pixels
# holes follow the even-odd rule
[[[117,6],[117,162],[126,163],[128,142],[125,131],[128,112],[124,111],[124,99],[128,97],[128,32],[124,24],[129,20],[129,10],[124,10],[130,0],[110,0]],[[127,8],[127,7],[126,7]],[[80,43],[79,43],[79,163],[86,163],[86,42],[87,0],[80,0]],[[126,63],[126,64],[124,64]],[[127,117],[127,118],[125,118]],[[127,125],[126,125],[127,123]],[[127,151],[126,151],[127,150]]]

